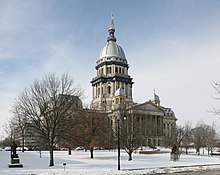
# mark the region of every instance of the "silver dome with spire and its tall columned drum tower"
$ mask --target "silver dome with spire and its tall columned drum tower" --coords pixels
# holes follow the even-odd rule
[[[117,44],[114,18],[111,17],[108,37],[96,62],[96,76],[92,79],[93,99],[91,108],[105,111],[120,105],[132,103],[132,78],[128,74],[129,65],[125,53]]]

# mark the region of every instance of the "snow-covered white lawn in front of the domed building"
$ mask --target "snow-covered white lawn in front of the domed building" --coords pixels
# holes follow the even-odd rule
[[[129,175],[129,174],[156,174],[180,171],[198,171],[204,169],[220,169],[219,157],[181,155],[180,160],[170,161],[169,153],[160,154],[133,154],[133,160],[128,161],[128,155],[121,151],[121,170],[117,170],[116,151],[95,151],[94,159],[85,151],[55,151],[55,166],[49,167],[47,151],[18,152],[23,168],[8,168],[10,151],[0,151],[0,174],[3,175]],[[65,171],[63,163],[66,163]],[[199,166],[198,166],[199,165]],[[206,166],[209,165],[209,166]]]

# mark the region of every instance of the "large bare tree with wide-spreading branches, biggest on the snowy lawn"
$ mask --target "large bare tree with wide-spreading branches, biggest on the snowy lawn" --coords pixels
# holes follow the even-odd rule
[[[54,148],[66,139],[67,131],[73,126],[72,116],[78,107],[76,101],[82,95],[82,89],[74,86],[68,74],[60,78],[49,74],[25,89],[15,102],[32,123],[38,138],[47,143],[49,166],[54,166]]]

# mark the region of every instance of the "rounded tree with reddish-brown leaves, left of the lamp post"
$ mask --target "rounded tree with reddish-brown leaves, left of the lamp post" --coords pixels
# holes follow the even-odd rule
[[[90,151],[94,158],[94,148],[106,145],[108,141],[108,117],[97,110],[85,109],[77,117],[77,125],[73,130],[74,140]]]

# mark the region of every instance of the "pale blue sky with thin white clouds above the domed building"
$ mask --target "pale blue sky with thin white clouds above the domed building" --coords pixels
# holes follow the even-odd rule
[[[219,0],[0,0],[0,118],[47,73],[69,72],[91,100],[111,14],[130,65],[135,102],[154,89],[184,124],[219,118],[211,82],[220,81]],[[1,130],[1,129],[0,129]]]

